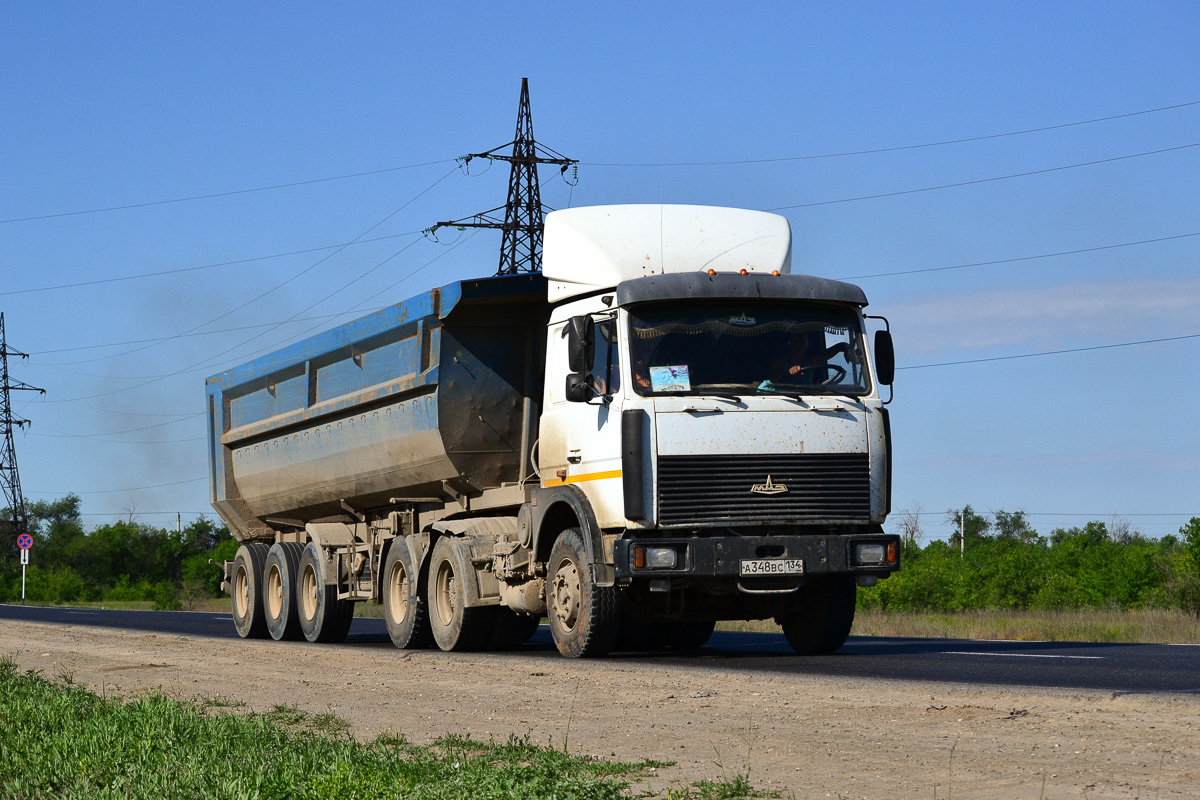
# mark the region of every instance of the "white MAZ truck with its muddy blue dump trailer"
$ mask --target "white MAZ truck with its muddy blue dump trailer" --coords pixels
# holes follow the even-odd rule
[[[853,284],[792,273],[786,218],[547,215],[540,273],[460,281],[206,381],[242,637],[398,648],[704,645],[774,619],[838,650],[900,566],[894,355]],[[888,401],[881,387],[888,386]]]

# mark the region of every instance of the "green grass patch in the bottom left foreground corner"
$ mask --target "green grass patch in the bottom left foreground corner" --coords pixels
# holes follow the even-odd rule
[[[360,742],[344,721],[276,706],[222,711],[162,694],[101,698],[73,682],[18,672],[0,658],[0,796],[25,800],[248,798],[618,799],[670,763],[605,762],[510,736],[446,735],[414,745]],[[742,778],[701,782],[671,798],[752,798]]]

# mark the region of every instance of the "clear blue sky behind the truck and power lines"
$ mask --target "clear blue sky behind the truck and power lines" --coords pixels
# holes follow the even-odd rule
[[[211,513],[206,375],[494,271],[497,235],[416,231],[503,204],[500,164],[452,160],[511,139],[528,77],[539,140],[582,162],[548,205],[787,207],[796,271],[878,276],[918,367],[895,505],[926,535],[965,503],[1172,533],[1200,338],[924,365],[1200,335],[1196,42],[1187,2],[6,2],[0,311],[47,390],[14,397],[25,494]]]

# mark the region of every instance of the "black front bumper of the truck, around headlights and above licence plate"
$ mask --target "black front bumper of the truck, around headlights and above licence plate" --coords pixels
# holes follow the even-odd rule
[[[860,545],[882,545],[881,563],[859,564]],[[673,548],[672,569],[637,567],[637,548]],[[888,555],[893,555],[888,560]],[[887,577],[900,569],[900,537],[890,534],[821,534],[775,536],[689,536],[680,539],[622,539],[613,545],[617,578],[739,577],[743,560],[799,559],[804,575],[863,575]]]

